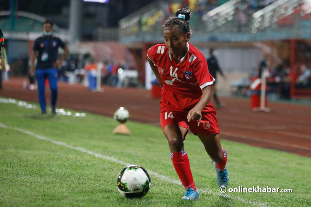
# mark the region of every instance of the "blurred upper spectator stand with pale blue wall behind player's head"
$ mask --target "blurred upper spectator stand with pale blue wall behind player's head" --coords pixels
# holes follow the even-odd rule
[[[310,2],[310,0],[153,2],[119,21],[119,41],[132,43],[161,40],[160,31],[164,20],[172,16],[177,8],[184,6],[193,11],[190,24],[197,35],[192,37],[192,42],[304,39],[308,38],[307,34],[311,28]]]

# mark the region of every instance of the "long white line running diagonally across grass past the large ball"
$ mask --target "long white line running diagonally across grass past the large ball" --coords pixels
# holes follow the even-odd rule
[[[27,130],[24,130],[24,129],[21,129],[21,128],[16,128],[16,127],[9,127],[7,125],[4,125],[0,122],[0,127],[2,128],[8,128],[8,129],[14,129],[16,131],[19,131],[19,132],[23,132],[25,134],[28,134],[30,136],[33,136],[33,137],[36,137],[38,139],[41,139],[41,140],[45,140],[45,141],[49,141],[49,142],[52,142],[54,144],[57,144],[57,145],[60,145],[60,146],[65,146],[67,148],[70,148],[70,149],[74,149],[74,150],[77,150],[77,151],[81,151],[81,152],[84,152],[86,154],[89,154],[89,155],[93,155],[95,157],[100,157],[104,160],[108,160],[108,161],[112,161],[114,163],[118,163],[118,164],[122,164],[123,166],[128,166],[130,165],[130,163],[126,163],[126,162],[123,162],[123,161],[120,161],[120,160],[117,160],[113,157],[109,157],[109,156],[105,156],[105,155],[102,155],[100,153],[96,153],[96,152],[93,152],[93,151],[89,151],[89,150],[86,150],[84,148],[81,148],[81,147],[75,147],[75,146],[72,146],[72,145],[68,145],[66,144],[65,142],[58,142],[58,141],[55,141],[53,139],[50,139],[50,138],[47,138],[47,137],[44,137],[44,136],[41,136],[41,135],[38,135],[38,134],[35,134],[33,132],[30,132],[30,131],[27,131]],[[161,180],[163,181],[166,181],[166,182],[171,182],[171,183],[174,183],[174,184],[177,184],[179,186],[183,186],[182,183],[178,180],[174,180],[174,179],[171,179],[171,178],[168,178],[164,175],[160,175],[159,173],[156,173],[154,171],[151,171],[151,170],[147,170],[152,176],[154,177],[157,177],[157,178],[160,178]],[[234,200],[239,200],[239,201],[242,201],[242,202],[245,202],[245,203],[250,203],[250,204],[253,204],[253,205],[258,205],[258,206],[267,206],[266,203],[260,203],[260,202],[256,202],[256,201],[251,201],[251,200],[245,200],[243,198],[240,198],[240,197],[236,197],[236,196],[230,196],[230,195],[227,195],[227,194],[221,194],[221,193],[218,193],[218,192],[214,192],[212,193],[212,190],[208,191],[207,189],[197,189],[200,193],[207,193],[207,194],[213,194],[215,196],[222,196],[222,197],[225,197],[225,198],[230,198],[230,199],[234,199]]]

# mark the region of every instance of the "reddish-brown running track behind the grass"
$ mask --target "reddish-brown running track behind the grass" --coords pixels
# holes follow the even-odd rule
[[[12,78],[3,83],[0,96],[38,102],[37,91],[24,90],[22,85],[22,78]],[[130,111],[131,120],[160,126],[160,99],[152,99],[145,89],[103,87],[104,92],[99,93],[89,92],[83,85],[59,83],[58,87],[58,108],[112,116],[123,106]],[[47,103],[49,96],[47,89]],[[270,102],[272,111],[266,113],[252,112],[249,99],[221,100],[226,106],[217,110],[217,119],[223,139],[311,157],[311,106]]]

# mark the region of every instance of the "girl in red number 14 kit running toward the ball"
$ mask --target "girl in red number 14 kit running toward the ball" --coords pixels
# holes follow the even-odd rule
[[[190,130],[203,143],[213,160],[218,186],[227,187],[227,153],[220,144],[219,128],[211,100],[211,84],[215,79],[208,72],[202,53],[189,42],[190,11],[179,9],[163,25],[164,44],[147,51],[148,61],[163,87],[160,101],[160,122],[169,143],[171,160],[186,189],[182,199],[200,197],[190,169],[183,141]]]

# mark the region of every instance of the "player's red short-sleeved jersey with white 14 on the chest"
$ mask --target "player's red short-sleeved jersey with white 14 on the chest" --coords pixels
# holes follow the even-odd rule
[[[147,56],[162,78],[161,95],[173,109],[191,110],[200,100],[202,89],[215,81],[208,72],[205,57],[188,42],[187,53],[179,61],[173,59],[165,44],[151,47]]]

